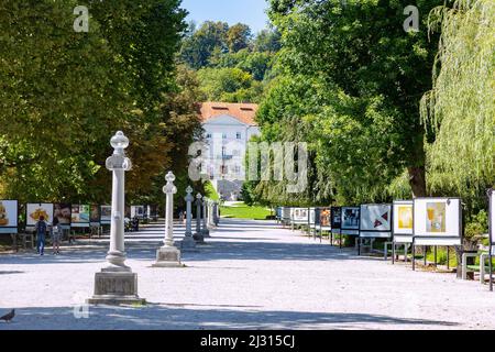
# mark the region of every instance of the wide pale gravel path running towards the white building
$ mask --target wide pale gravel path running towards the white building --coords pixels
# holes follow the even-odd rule
[[[145,307],[89,307],[107,240],[61,256],[0,255],[6,329],[494,329],[495,294],[453,274],[411,272],[316,243],[273,222],[222,220],[186,268],[152,268],[163,227],[128,235]],[[178,237],[184,233],[180,228]],[[84,315],[82,315],[84,316]]]

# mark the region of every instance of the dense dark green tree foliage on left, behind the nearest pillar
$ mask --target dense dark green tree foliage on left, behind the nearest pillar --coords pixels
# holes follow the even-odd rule
[[[89,1],[89,33],[76,33],[77,4],[0,4],[1,196],[109,201],[103,165],[123,130],[134,165],[128,200],[162,199],[154,182],[183,163],[174,153],[199,128],[196,94],[175,75],[185,12],[179,0]]]

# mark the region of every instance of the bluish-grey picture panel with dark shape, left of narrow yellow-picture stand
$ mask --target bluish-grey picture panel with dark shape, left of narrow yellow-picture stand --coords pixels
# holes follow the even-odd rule
[[[392,237],[392,205],[363,205],[360,211],[360,238]]]

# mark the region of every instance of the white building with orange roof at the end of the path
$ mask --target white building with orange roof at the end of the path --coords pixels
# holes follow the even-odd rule
[[[207,165],[202,165],[217,193],[226,200],[237,200],[245,180],[244,157],[248,143],[260,135],[254,121],[255,103],[204,102],[200,107]]]

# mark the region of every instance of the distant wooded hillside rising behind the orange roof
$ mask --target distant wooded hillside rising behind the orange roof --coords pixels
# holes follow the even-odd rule
[[[184,38],[179,58],[198,72],[207,100],[258,102],[279,48],[276,31],[262,31],[255,38],[242,23],[229,28],[223,22],[195,25]]]

